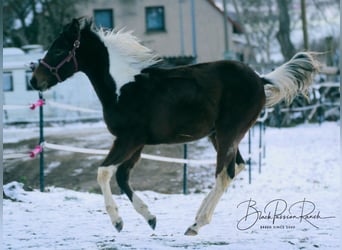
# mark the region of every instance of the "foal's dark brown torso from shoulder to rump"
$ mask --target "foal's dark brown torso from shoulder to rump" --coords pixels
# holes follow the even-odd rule
[[[216,61],[143,70],[123,86],[119,106],[146,126],[147,144],[174,143],[206,136],[219,123],[253,120],[263,98],[261,80],[248,66]]]

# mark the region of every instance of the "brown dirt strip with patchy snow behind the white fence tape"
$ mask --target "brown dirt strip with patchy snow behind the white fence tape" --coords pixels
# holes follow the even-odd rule
[[[6,130],[4,130],[4,134]],[[109,149],[113,137],[103,127],[61,127],[47,133],[50,143],[83,148]],[[4,143],[4,154],[27,152],[37,145],[37,138]],[[204,139],[188,146],[188,157],[196,159],[204,151],[209,154],[211,145]],[[183,145],[146,146],[144,153],[182,158]],[[209,157],[214,158],[215,153]],[[203,159],[203,156],[201,157]],[[65,151],[45,150],[45,185],[74,190],[99,192],[96,182],[97,167],[104,159],[102,155],[86,155]],[[214,182],[214,166],[189,166],[188,188],[196,192],[210,188]],[[4,183],[20,181],[27,187],[39,187],[39,159],[4,161]],[[131,173],[131,184],[136,190],[153,190],[161,193],[181,193],[183,190],[183,165],[140,160]],[[113,193],[120,190],[112,181]]]

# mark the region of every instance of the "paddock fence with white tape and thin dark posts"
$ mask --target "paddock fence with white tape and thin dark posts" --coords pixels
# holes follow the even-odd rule
[[[320,89],[322,87],[339,87],[339,83],[325,83],[325,84],[316,84],[314,85],[314,89]],[[54,143],[50,143],[45,140],[44,138],[44,106],[49,105],[54,108],[67,110],[70,112],[77,111],[77,112],[85,112],[85,113],[96,113],[101,114],[101,111],[93,110],[89,108],[82,108],[73,105],[68,105],[64,103],[58,103],[50,100],[45,100],[43,94],[39,92],[38,100],[30,105],[3,105],[3,110],[27,110],[27,112],[35,112],[38,109],[39,112],[39,143],[33,148],[30,152],[17,152],[12,154],[3,154],[3,160],[10,160],[10,159],[22,159],[22,160],[30,160],[39,156],[39,183],[40,183],[40,191],[44,191],[45,189],[45,181],[44,181],[44,152],[46,149],[50,150],[62,150],[62,151],[69,151],[74,153],[84,153],[84,154],[91,154],[91,155],[106,155],[108,154],[108,150],[99,150],[99,149],[89,149],[89,148],[79,148],[69,145],[58,145]],[[299,108],[283,108],[280,112],[298,112],[304,110],[311,110],[311,115],[317,111],[318,108],[326,105],[334,105],[329,103],[316,103],[314,105],[308,105]],[[30,111],[31,110],[31,111]],[[244,158],[247,159],[246,163],[248,165],[248,182],[252,183],[252,137],[256,133],[255,130],[258,130],[258,173],[262,172],[262,165],[263,159],[266,158],[266,140],[265,140],[265,133],[266,133],[266,125],[265,122],[269,118],[269,114],[273,112],[274,109],[264,109],[261,116],[258,118],[257,123],[254,127],[250,129],[248,132],[248,153],[244,155]],[[255,153],[255,152],[253,152]],[[187,187],[187,176],[188,176],[188,166],[196,166],[196,165],[209,165],[215,164],[216,159],[206,159],[206,160],[195,160],[188,158],[188,145],[184,144],[183,147],[183,158],[173,158],[173,157],[165,157],[159,155],[150,155],[150,154],[142,154],[142,159],[152,160],[152,161],[162,161],[162,162],[172,162],[177,164],[183,164],[183,193],[188,193]]]

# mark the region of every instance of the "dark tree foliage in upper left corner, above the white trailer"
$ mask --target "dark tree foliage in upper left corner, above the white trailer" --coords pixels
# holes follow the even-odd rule
[[[86,1],[86,0],[85,0]],[[83,1],[83,3],[85,2]],[[5,0],[4,46],[48,46],[74,17],[78,0]]]

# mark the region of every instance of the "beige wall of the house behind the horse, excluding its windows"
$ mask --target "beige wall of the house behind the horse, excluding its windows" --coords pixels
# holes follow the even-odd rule
[[[90,0],[78,7],[79,16],[93,16],[94,9],[113,9],[114,26],[133,30],[142,43],[161,56],[181,55],[180,2],[184,27],[184,54],[192,55],[191,0]],[[197,62],[223,59],[223,15],[207,0],[196,0]],[[146,32],[145,7],[164,6],[165,32]],[[228,22],[229,43],[232,48],[232,25]]]

